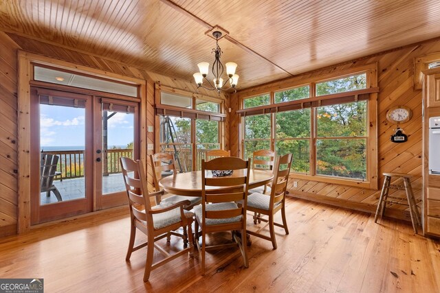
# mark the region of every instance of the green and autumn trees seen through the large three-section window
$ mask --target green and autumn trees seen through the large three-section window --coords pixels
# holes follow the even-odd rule
[[[316,84],[316,94],[330,95],[365,87],[366,74],[360,74],[320,82]],[[281,91],[275,93],[275,102],[304,99],[309,97],[309,92],[309,86]],[[244,107],[262,106],[268,102],[268,95],[261,95],[245,99]],[[366,102],[322,106],[316,108],[316,113],[316,117],[311,117],[309,108],[277,113],[276,152],[294,154],[292,169],[295,172],[309,172],[311,119],[316,119],[317,173],[366,178]],[[270,148],[270,128],[270,115],[245,117],[245,157],[252,156],[254,150]]]

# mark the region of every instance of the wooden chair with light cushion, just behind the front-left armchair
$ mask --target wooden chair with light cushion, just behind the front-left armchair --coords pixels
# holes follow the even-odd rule
[[[166,152],[158,152],[150,155],[151,166],[153,167],[153,183],[155,191],[160,190],[159,180],[165,176],[171,176],[177,174],[175,167],[175,159],[173,154]],[[165,193],[165,196],[156,198],[156,204],[164,204],[165,202],[180,202],[181,200],[189,200],[190,204],[185,206],[184,209],[189,211],[195,205],[201,203],[201,198],[195,196],[179,196],[175,194]]]

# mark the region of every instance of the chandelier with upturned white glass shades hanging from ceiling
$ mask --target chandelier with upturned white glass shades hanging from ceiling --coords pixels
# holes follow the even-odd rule
[[[228,62],[225,64],[228,80],[223,84],[223,78],[221,78],[221,75],[223,74],[224,67],[220,61],[221,54],[223,53],[223,51],[221,51],[219,46],[219,39],[221,38],[221,32],[218,31],[212,32],[212,36],[214,36],[215,43],[217,45],[214,49],[212,49],[212,52],[215,53],[215,60],[214,63],[212,64],[212,69],[211,69],[212,74],[214,75],[214,79],[212,80],[213,83],[211,83],[210,80],[206,78],[209,71],[209,63],[200,62],[199,64],[197,64],[200,72],[193,74],[195,82],[197,83],[197,91],[199,90],[199,87],[202,87],[203,89],[207,89],[209,91],[217,91],[218,93],[220,93],[220,91],[228,91],[229,89],[234,89],[234,93],[236,93],[235,86],[239,81],[239,75],[235,74],[236,63]],[[209,86],[203,86],[203,80],[208,82]],[[228,81],[230,86],[225,87]]]

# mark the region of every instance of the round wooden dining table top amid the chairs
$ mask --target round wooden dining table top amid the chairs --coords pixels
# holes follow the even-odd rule
[[[243,176],[244,172],[244,170],[234,170],[232,175],[224,177],[233,178],[234,176]],[[212,177],[211,172],[208,171],[206,177]],[[249,174],[249,189],[270,183],[272,178],[274,178],[272,171],[251,169]],[[201,171],[177,173],[167,176],[159,180],[159,185],[170,194],[201,196]]]

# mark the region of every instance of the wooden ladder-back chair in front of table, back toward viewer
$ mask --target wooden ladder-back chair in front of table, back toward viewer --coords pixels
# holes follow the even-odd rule
[[[212,170],[234,170],[232,176],[207,176]],[[241,170],[241,171],[239,171]],[[237,174],[238,173],[238,174]],[[201,205],[194,208],[195,240],[201,258],[201,274],[205,274],[205,253],[209,249],[239,246],[245,268],[248,268],[246,239],[246,202],[250,174],[250,160],[224,157],[210,161],[201,160]],[[216,187],[220,187],[216,188]],[[240,202],[240,204],[236,204]],[[201,226],[201,244],[199,244]],[[206,235],[220,231],[232,231],[232,243],[206,245]],[[241,237],[236,231],[241,231]]]

